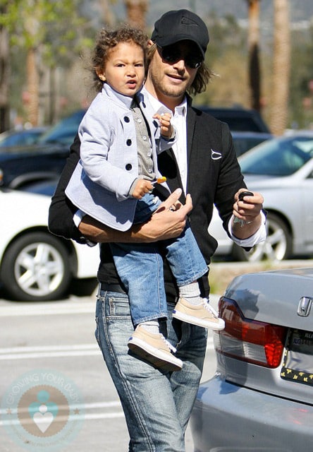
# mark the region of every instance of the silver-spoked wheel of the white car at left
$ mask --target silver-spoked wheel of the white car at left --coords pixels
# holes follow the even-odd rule
[[[49,301],[70,285],[66,247],[46,232],[30,232],[16,239],[1,263],[1,283],[8,296],[20,301]]]

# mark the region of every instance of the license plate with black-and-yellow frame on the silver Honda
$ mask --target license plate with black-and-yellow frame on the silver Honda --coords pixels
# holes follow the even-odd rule
[[[313,386],[313,333],[290,331],[281,378]]]

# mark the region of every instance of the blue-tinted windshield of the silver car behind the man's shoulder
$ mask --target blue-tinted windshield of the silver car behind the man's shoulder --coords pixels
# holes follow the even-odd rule
[[[240,157],[244,174],[290,176],[313,155],[313,136],[275,138],[257,146]]]

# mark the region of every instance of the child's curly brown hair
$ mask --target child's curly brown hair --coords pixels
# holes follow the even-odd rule
[[[94,89],[97,92],[102,90],[103,81],[97,76],[97,71],[104,68],[108,52],[120,42],[134,42],[139,45],[144,52],[145,67],[146,67],[146,50],[148,37],[139,28],[130,27],[128,24],[121,25],[116,30],[100,30],[92,56],[92,74],[94,80]]]

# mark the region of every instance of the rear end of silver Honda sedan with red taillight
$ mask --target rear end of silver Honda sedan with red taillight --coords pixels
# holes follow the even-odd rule
[[[219,314],[216,374],[191,417],[195,451],[312,451],[313,268],[238,276]]]

